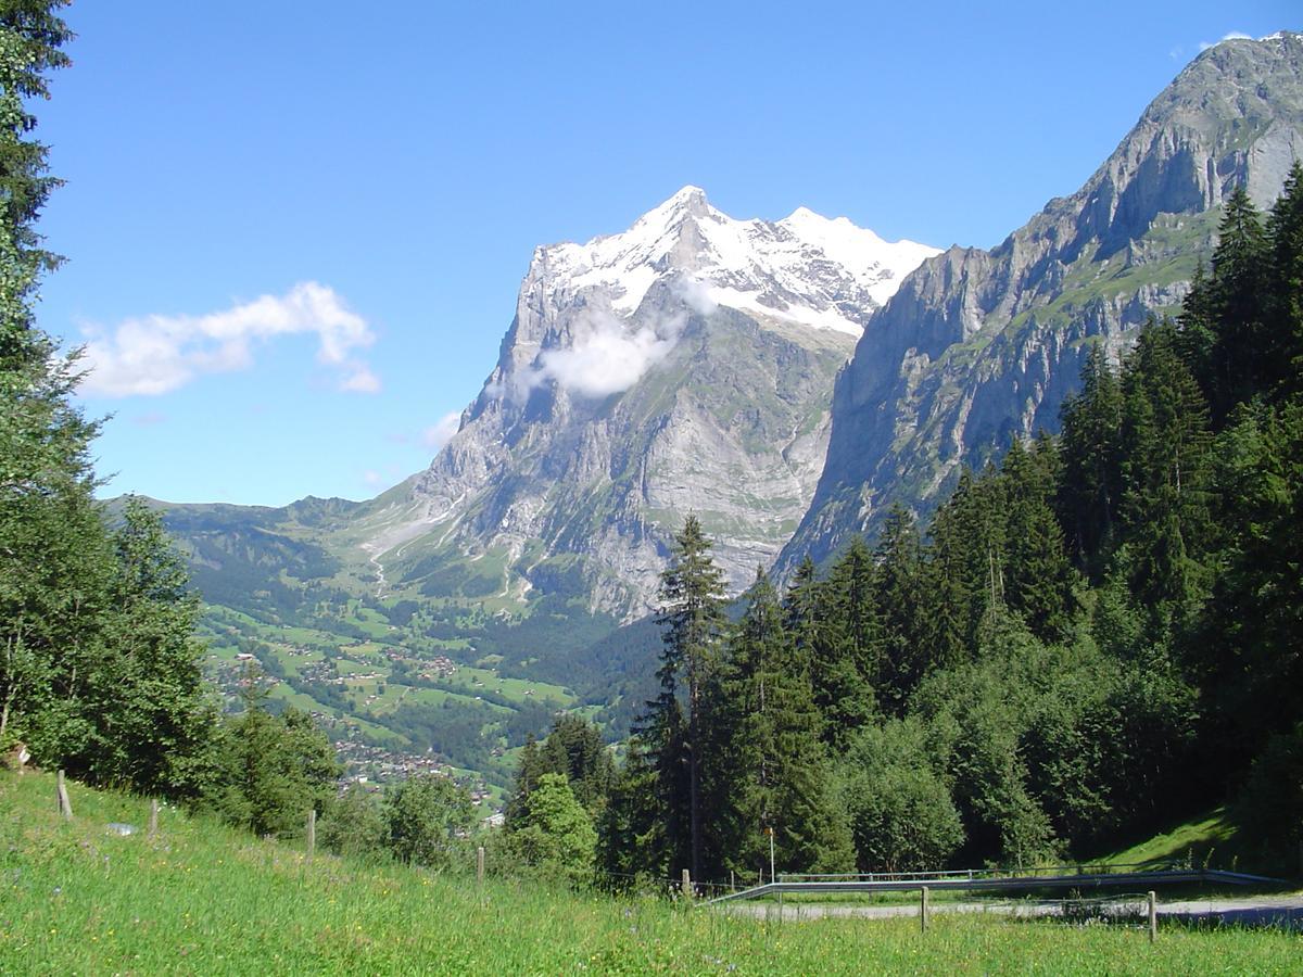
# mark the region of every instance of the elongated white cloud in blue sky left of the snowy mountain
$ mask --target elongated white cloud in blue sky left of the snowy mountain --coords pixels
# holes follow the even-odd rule
[[[257,343],[315,333],[317,361],[340,374],[339,389],[379,391],[370,367],[353,356],[375,341],[366,320],[335,290],[301,281],[283,296],[262,296],[207,315],[147,315],[111,331],[87,327],[82,391],[106,397],[155,396],[208,373],[246,370]]]

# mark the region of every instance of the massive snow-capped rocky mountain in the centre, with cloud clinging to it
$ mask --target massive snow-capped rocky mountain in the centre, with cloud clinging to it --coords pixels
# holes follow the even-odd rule
[[[807,210],[734,220],[696,188],[537,249],[496,367],[365,548],[390,586],[632,616],[693,512],[741,589],[809,505],[861,324],[934,253]]]

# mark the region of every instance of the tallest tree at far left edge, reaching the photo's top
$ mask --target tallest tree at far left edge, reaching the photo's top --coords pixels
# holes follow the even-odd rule
[[[65,666],[93,632],[108,559],[91,500],[96,425],[73,406],[74,363],[34,313],[59,263],[36,232],[59,181],[25,100],[48,98],[47,73],[68,64],[61,5],[0,4],[0,736],[25,737],[42,762],[85,741],[70,735],[78,690]]]

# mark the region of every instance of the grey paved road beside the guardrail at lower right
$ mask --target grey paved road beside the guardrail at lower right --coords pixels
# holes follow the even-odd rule
[[[1093,901],[1093,900],[1092,900]],[[1144,899],[1119,898],[1101,903],[1135,914],[1144,912]],[[721,912],[754,916],[774,921],[820,920],[826,917],[857,917],[887,920],[898,916],[917,916],[919,905],[826,905],[820,903],[732,903],[718,907]],[[933,903],[933,913],[990,913],[993,916],[1057,916],[1058,901],[1014,903]],[[1158,918],[1184,922],[1226,924],[1237,926],[1286,926],[1303,930],[1303,892],[1272,896],[1243,896],[1238,899],[1186,899],[1173,903],[1158,901]]]

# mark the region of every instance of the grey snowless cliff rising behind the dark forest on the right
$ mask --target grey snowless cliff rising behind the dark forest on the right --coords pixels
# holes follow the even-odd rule
[[[925,261],[837,383],[827,461],[780,560],[822,559],[893,502],[928,508],[962,464],[1054,430],[1088,341],[1174,313],[1238,185],[1260,207],[1303,158],[1303,35],[1192,61],[1089,181],[993,250]]]

